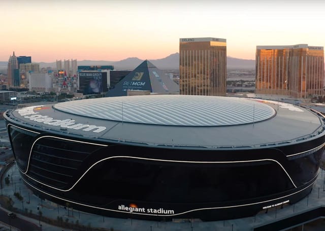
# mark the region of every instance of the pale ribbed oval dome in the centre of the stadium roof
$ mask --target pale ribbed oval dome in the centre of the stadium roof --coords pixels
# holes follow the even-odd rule
[[[120,122],[225,126],[269,119],[275,110],[247,98],[200,95],[141,95],[59,103],[55,109],[74,115]]]

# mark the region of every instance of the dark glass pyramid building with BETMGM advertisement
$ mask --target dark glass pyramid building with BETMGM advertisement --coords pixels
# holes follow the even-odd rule
[[[108,92],[108,96],[124,96],[127,95],[128,90],[150,91],[155,94],[178,94],[179,86],[150,61],[145,60],[121,79]]]

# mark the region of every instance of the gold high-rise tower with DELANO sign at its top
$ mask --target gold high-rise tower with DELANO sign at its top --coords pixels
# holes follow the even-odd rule
[[[180,94],[225,95],[225,39],[179,40],[179,90]]]

